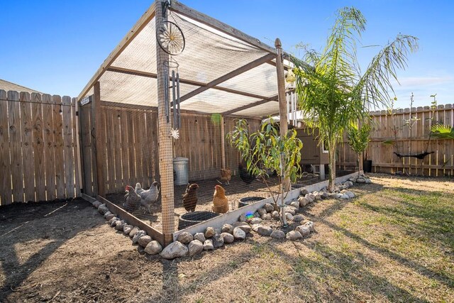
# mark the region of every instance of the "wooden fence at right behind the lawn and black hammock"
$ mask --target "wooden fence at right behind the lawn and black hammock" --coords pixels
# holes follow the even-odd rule
[[[453,127],[454,109],[452,104],[438,105],[435,111],[429,106],[412,109],[399,109],[394,115],[386,111],[375,111],[371,114],[373,123],[367,158],[372,160],[372,172],[409,172],[412,175],[453,176],[454,140],[436,140],[429,133],[431,121]],[[411,117],[416,118],[413,126],[407,125]],[[395,125],[395,128],[394,128]],[[394,136],[396,129],[396,136]],[[392,141],[386,144],[385,141]],[[399,158],[394,154],[416,155],[423,152],[434,152],[423,160],[417,158]],[[356,165],[357,156],[351,150],[348,141],[338,147],[338,165],[341,168]]]

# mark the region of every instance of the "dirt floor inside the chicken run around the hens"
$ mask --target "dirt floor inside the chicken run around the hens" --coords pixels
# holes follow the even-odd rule
[[[301,179],[300,182],[301,184],[313,184],[319,182],[319,180],[316,178],[306,178]],[[198,203],[196,206],[196,211],[211,211],[211,206],[213,205],[212,202],[214,187],[216,185],[221,185],[224,189],[226,189],[226,197],[228,198],[230,210],[237,209],[238,201],[243,197],[270,197],[270,191],[268,190],[267,185],[264,182],[253,180],[253,182],[251,182],[250,184],[245,184],[238,176],[232,176],[232,180],[229,182],[229,185],[220,184],[216,179],[196,181],[194,183],[197,183],[199,185],[199,189],[197,189]],[[267,183],[272,192],[277,194],[277,191],[279,190],[278,178],[271,177],[267,180]],[[187,185],[175,186],[175,226],[178,226],[179,216],[186,214],[187,212],[182,204],[182,195],[184,194],[186,187]],[[106,198],[110,202],[123,208],[123,203],[125,202],[124,195],[124,193],[108,194]],[[150,209],[151,214],[149,214],[148,212],[145,213],[143,209],[138,209],[134,211],[133,214],[134,216],[150,224],[157,230],[162,231],[162,210],[160,197],[157,203],[153,204]]]

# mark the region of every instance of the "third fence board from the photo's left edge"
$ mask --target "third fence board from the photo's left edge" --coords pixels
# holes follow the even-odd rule
[[[21,124],[22,124],[22,162],[24,167],[23,186],[24,201],[35,201],[35,163],[33,161],[33,118],[31,114],[30,94],[21,92]]]

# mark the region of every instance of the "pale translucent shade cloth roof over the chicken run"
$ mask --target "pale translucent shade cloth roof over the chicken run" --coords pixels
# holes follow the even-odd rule
[[[99,81],[103,101],[157,106],[155,6],[104,61],[79,99],[93,94]],[[168,20],[186,40],[184,51],[173,57],[182,110],[255,118],[279,111],[275,48],[177,1]]]

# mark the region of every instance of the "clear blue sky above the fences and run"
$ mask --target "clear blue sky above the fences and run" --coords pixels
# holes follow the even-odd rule
[[[367,19],[362,45],[385,45],[398,33],[415,35],[420,49],[409,57],[396,85],[397,105],[454,103],[453,1],[269,1],[182,0],[184,4],[284,49],[309,43],[321,50],[341,6],[355,6]],[[0,0],[0,79],[40,92],[77,97],[151,0]],[[361,46],[361,45],[360,45]],[[380,48],[359,48],[362,69]]]

